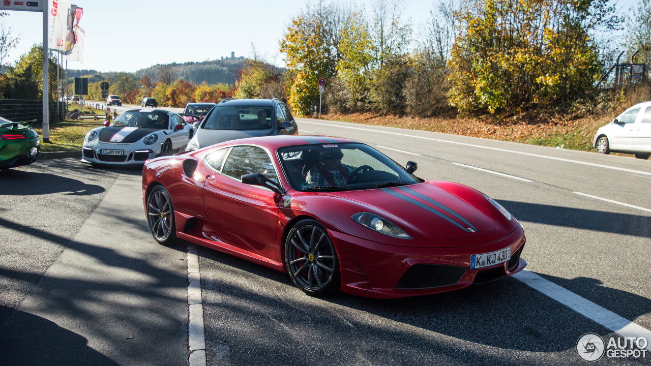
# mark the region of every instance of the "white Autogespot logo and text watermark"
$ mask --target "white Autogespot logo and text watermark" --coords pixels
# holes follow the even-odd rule
[[[584,361],[607,358],[646,358],[648,341],[644,337],[609,337],[604,342],[600,335],[585,333],[576,341],[576,352]]]

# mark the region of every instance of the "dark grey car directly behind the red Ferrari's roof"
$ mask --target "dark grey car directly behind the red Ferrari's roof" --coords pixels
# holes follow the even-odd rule
[[[277,98],[222,100],[196,128],[187,150],[245,137],[298,135],[292,113]]]

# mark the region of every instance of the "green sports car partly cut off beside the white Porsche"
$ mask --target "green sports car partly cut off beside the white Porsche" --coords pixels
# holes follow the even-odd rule
[[[12,122],[0,117],[0,170],[36,162],[40,138],[31,122]]]

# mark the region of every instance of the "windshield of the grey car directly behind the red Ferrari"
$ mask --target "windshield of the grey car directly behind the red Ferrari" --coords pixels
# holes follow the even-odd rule
[[[271,107],[215,107],[202,128],[206,130],[268,130],[271,128]]]

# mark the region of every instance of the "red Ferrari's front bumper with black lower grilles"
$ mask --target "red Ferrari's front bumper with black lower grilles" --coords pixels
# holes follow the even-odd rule
[[[526,238],[521,226],[488,244],[470,247],[396,247],[329,231],[337,249],[341,290],[369,298],[402,298],[463,289],[515,274],[527,266],[520,259]],[[511,259],[470,269],[470,256],[511,247]],[[420,287],[424,286],[424,287]]]

